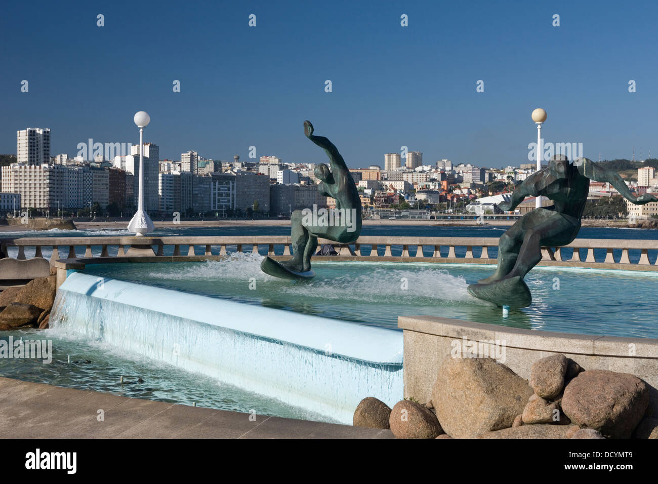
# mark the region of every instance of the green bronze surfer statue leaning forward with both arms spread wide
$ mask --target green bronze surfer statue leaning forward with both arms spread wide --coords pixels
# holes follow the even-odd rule
[[[590,189],[590,180],[609,182],[636,205],[657,202],[650,194],[634,196],[624,180],[587,158],[573,163],[565,155],[551,158],[548,167],[528,176],[500,209],[511,211],[528,196],[553,200],[549,207],[536,208],[521,217],[498,242],[498,269],[491,277],[470,284],[468,292],[498,306],[525,308],[532,303],[524,276],[542,260],[542,247],[570,244],[580,230],[580,219]]]

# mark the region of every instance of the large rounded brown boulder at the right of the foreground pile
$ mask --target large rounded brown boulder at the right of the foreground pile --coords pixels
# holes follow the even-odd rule
[[[649,404],[644,381],[630,373],[592,369],[569,382],[562,410],[573,423],[604,437],[628,439]]]

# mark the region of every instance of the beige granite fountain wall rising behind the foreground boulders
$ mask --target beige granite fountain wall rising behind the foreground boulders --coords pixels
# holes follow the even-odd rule
[[[504,364],[525,379],[530,379],[534,362],[555,353],[586,370],[632,373],[649,385],[649,411],[658,416],[658,339],[532,331],[432,316],[401,316],[397,325],[404,338],[405,398],[430,400],[440,364],[451,353],[453,342],[497,340],[505,344]]]

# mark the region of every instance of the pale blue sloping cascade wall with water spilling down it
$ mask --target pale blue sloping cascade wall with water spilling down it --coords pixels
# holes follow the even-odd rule
[[[70,271],[51,327],[351,424],[403,396],[402,333]]]

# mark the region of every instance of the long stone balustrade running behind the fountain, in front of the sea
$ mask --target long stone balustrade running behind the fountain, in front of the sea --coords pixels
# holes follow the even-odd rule
[[[326,259],[495,263],[495,254],[492,257],[490,250],[497,254],[498,238],[361,236],[354,244],[338,244],[324,239],[318,242],[331,244],[339,252],[338,257]],[[93,257],[167,255],[198,258],[222,257],[230,252],[259,252],[275,258],[291,255],[290,236],[26,237],[0,239],[0,243],[5,254],[9,254],[9,249],[17,248],[17,252],[16,249],[13,252],[16,252],[14,258],[18,260],[27,258],[26,249],[30,252],[34,249],[34,258],[43,258],[43,248],[52,249],[49,257],[51,265],[59,259]],[[655,267],[658,261],[651,263],[650,250],[658,250],[658,240],[576,239],[567,246],[542,248],[542,264],[655,270],[658,269]],[[632,257],[629,257],[629,251],[634,252]],[[320,260],[325,258],[316,257]]]

